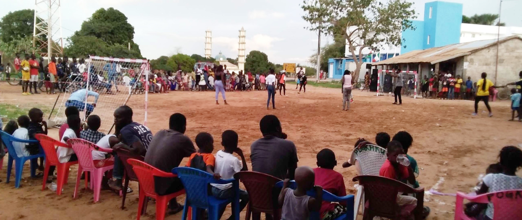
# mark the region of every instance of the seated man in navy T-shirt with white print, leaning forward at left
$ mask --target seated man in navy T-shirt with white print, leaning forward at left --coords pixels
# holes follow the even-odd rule
[[[136,155],[146,155],[149,143],[152,140],[152,132],[144,125],[140,125],[132,120],[132,108],[122,105],[114,111],[114,125],[120,130],[121,143],[113,146],[113,150],[125,149]],[[114,155],[114,169],[112,176],[114,180],[109,180],[109,186],[116,190],[122,190],[123,164]]]

